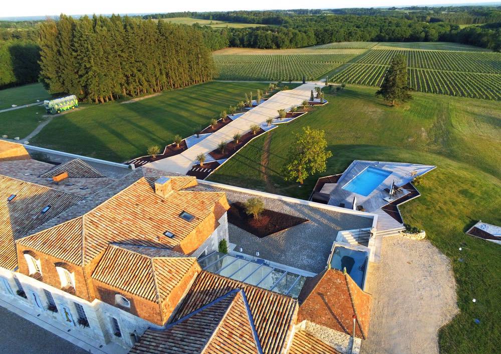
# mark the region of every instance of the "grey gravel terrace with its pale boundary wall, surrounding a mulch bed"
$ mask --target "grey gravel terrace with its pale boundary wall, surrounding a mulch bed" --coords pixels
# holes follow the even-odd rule
[[[325,269],[332,244],[338,231],[371,228],[374,215],[324,206],[317,203],[300,204],[293,198],[246,191],[243,188],[225,186],[218,183],[207,184],[198,181],[197,190],[223,191],[228,203],[244,202],[252,197],[259,197],[265,202],[265,208],[289,215],[308,219],[308,222],[259,238],[228,223],[229,241],[235,244],[235,251],[242,248],[242,253],[271,260],[290,267],[319,273]],[[315,206],[318,205],[318,206]]]

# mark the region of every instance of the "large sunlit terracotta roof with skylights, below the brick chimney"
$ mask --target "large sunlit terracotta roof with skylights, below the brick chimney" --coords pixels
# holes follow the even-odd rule
[[[196,184],[194,178],[172,177],[173,191],[167,198],[155,194],[155,180],[155,177],[143,177],[83,216],[42,230],[19,242],[82,265],[88,264],[114,242],[173,248],[202,222],[210,217],[218,219],[229,207],[221,192],[177,190],[180,186]],[[180,218],[182,211],[194,215],[194,220],[188,222]],[[214,228],[216,226],[213,224]],[[172,232],[174,237],[165,236],[165,231]],[[80,245],[79,248],[61,245],[61,237],[71,239],[75,246]],[[200,244],[203,241],[200,240]]]

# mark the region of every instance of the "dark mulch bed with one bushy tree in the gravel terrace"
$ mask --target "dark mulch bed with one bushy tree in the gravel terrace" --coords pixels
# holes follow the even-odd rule
[[[260,238],[309,221],[297,216],[265,209],[258,219],[247,215],[243,203],[235,202],[228,210],[228,222]]]

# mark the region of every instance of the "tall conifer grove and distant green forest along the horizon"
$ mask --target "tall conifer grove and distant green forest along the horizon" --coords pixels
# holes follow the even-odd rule
[[[172,17],[267,26],[188,27],[156,21]],[[460,28],[460,24],[475,26]],[[87,41],[83,34],[88,34]],[[501,51],[501,7],[181,12],[79,20],[62,15],[56,21],[0,21],[0,88],[38,80],[40,47],[41,79],[52,93],[78,88],[81,99],[106,101],[117,95],[135,96],[209,80],[213,70],[209,51],[225,47],[288,49],[332,42],[436,41]],[[169,60],[162,61],[162,55],[168,55]],[[195,63],[198,55],[204,58],[200,65]],[[113,58],[113,68],[104,64],[108,57]],[[99,64],[89,65],[89,60]],[[175,74],[180,68],[190,71]],[[86,79],[72,79],[70,82],[78,85],[65,87],[62,82],[68,81],[58,78],[58,71]],[[115,74],[115,87],[104,84]],[[94,79],[97,84],[89,83],[92,77],[100,78]]]

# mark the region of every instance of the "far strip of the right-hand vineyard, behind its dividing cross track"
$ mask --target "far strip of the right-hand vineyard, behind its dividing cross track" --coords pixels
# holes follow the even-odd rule
[[[397,54],[407,58],[409,68],[501,74],[501,53],[371,50],[356,63],[389,65]]]

